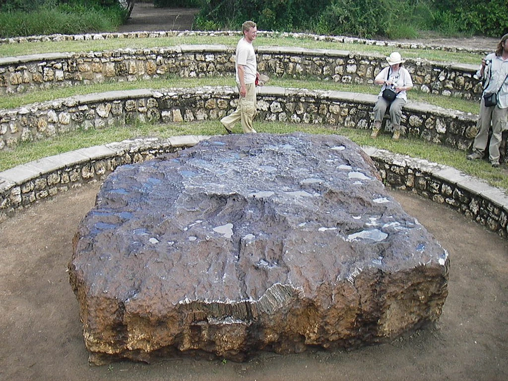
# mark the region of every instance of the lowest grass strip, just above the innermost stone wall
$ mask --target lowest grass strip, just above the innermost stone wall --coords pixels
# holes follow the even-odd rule
[[[448,165],[466,174],[485,179],[493,186],[508,190],[508,175],[505,170],[495,169],[486,161],[470,162],[465,160],[463,151],[437,146],[419,139],[403,138],[393,141],[389,135],[382,134],[370,139],[370,131],[355,129],[331,129],[316,125],[255,122],[258,132],[287,134],[305,132],[309,134],[340,134],[350,138],[360,146],[375,146],[394,153],[418,157],[430,162]],[[239,131],[237,131],[239,132]],[[24,164],[39,158],[68,152],[79,148],[100,145],[137,137],[171,137],[181,135],[221,135],[224,129],[218,121],[196,121],[192,123],[135,124],[117,126],[104,130],[78,130],[37,142],[20,144],[15,150],[0,151],[0,171]]]

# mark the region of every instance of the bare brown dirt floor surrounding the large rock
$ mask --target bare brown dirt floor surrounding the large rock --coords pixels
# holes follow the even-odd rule
[[[99,187],[60,194],[0,223],[0,379],[508,379],[508,241],[446,206],[403,192],[391,194],[450,253],[449,297],[435,325],[353,352],[90,366],[67,264],[76,227]]]

